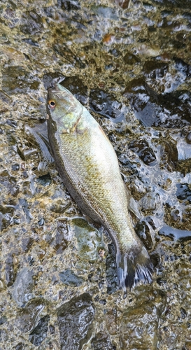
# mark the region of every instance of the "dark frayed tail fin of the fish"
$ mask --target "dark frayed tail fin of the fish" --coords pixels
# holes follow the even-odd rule
[[[135,246],[125,253],[116,254],[116,264],[118,269],[118,283],[120,288],[126,290],[133,288],[139,281],[151,283],[153,264],[150,261],[146,248]]]

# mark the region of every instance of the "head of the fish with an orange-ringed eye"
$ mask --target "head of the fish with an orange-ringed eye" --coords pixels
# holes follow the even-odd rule
[[[76,123],[83,112],[83,106],[66,87],[55,83],[48,89],[47,114],[48,120],[57,123],[60,127],[70,127]]]

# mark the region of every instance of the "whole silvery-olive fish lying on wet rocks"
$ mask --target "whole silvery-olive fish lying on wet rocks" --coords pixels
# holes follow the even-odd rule
[[[59,83],[48,89],[50,151],[80,211],[104,227],[115,246],[118,285],[151,283],[153,265],[129,215],[129,195],[115,150],[101,126]]]

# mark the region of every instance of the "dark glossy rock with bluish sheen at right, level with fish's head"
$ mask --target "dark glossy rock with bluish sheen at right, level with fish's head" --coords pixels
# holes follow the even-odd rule
[[[157,94],[143,78],[132,80],[124,96],[134,110],[136,118],[146,127],[183,127],[191,123],[191,107],[173,93]]]

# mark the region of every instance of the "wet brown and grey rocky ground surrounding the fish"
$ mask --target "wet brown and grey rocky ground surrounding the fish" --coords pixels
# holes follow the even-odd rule
[[[190,349],[190,0],[0,10],[0,349]],[[108,135],[141,214],[156,272],[126,297],[110,237],[50,155],[45,101],[60,79]]]

